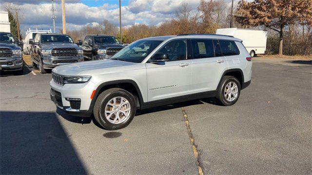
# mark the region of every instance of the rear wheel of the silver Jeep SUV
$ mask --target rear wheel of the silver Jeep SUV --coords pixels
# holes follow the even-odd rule
[[[234,76],[224,76],[218,88],[217,99],[221,105],[234,105],[240,95],[241,85]]]

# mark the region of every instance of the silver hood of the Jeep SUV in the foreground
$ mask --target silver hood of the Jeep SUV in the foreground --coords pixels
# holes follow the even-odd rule
[[[53,72],[60,75],[69,75],[69,76],[75,75],[92,76],[94,74],[139,69],[136,65],[140,67],[142,64],[112,59],[103,59],[98,61],[86,61],[64,66],[58,66],[53,69]]]

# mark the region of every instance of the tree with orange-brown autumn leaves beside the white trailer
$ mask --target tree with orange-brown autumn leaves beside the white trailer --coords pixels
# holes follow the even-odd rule
[[[278,32],[278,54],[283,54],[284,29],[291,24],[312,25],[312,0],[240,0],[235,19],[245,27],[263,25]]]

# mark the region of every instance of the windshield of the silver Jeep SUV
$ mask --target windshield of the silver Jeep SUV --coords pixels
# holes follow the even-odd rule
[[[141,63],[162,41],[141,40],[123,48],[111,59]]]

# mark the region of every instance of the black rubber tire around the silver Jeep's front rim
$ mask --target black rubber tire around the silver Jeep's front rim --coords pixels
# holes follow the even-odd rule
[[[105,116],[106,105],[111,101],[111,99],[113,99],[115,97],[125,98],[126,100],[128,100],[130,107],[131,107],[130,108],[130,114],[128,115],[128,118],[124,122],[118,123],[118,124],[111,123]],[[107,130],[117,130],[117,129],[124,128],[131,123],[131,121],[133,120],[133,118],[136,114],[136,110],[137,110],[137,105],[135,103],[135,98],[130,92],[128,92],[124,89],[121,89],[121,88],[111,88],[111,89],[107,89],[107,90],[103,91],[101,94],[99,94],[97,101],[96,101],[94,108],[93,108],[93,114],[94,114],[94,118],[96,119],[97,123],[100,124],[103,128],[105,128]],[[116,114],[116,112],[115,112],[115,114]],[[115,114],[113,114],[113,115],[115,115]],[[114,117],[114,119],[115,119],[116,115],[115,116],[113,116],[113,115],[112,115],[112,117]]]

